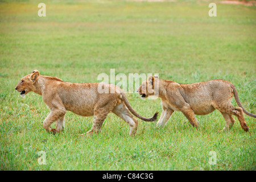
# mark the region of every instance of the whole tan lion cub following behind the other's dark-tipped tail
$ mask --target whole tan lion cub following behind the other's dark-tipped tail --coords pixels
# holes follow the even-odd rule
[[[150,86],[147,85],[152,85],[152,88],[150,89]],[[175,81],[161,80],[158,77],[148,77],[137,92],[146,98],[154,95],[155,90],[158,90],[158,97],[162,99],[163,111],[158,121],[160,126],[166,125],[175,110],[181,111],[195,127],[199,125],[195,114],[205,115],[215,109],[220,110],[226,120],[226,126],[222,131],[234,125],[232,115],[236,115],[245,131],[249,131],[249,128],[246,125],[243,112],[251,117],[256,117],[255,114],[249,113],[242,107],[237,90],[229,81],[210,80],[194,84],[178,84]],[[233,94],[240,107],[232,105]]]

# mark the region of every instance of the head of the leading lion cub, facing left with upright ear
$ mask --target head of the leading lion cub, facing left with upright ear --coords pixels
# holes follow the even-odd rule
[[[32,73],[20,79],[15,86],[15,90],[20,92],[20,96],[24,97],[28,92],[35,90],[34,82],[38,80],[39,75],[39,71],[35,69]]]

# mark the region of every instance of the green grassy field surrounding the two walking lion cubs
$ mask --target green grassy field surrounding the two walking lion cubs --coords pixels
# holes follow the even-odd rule
[[[125,121],[109,114],[102,133],[86,138],[77,134],[93,118],[68,112],[64,132],[52,135],[43,129],[49,109],[42,97],[14,90],[34,69],[69,82],[100,82],[112,68],[180,83],[218,78],[236,85],[255,114],[255,6],[217,3],[217,17],[209,17],[209,1],[44,1],[46,17],[39,17],[40,2],[0,1],[1,170],[256,169],[256,119],[247,115],[248,133],[237,118],[218,132],[225,126],[219,111],[197,116],[200,130],[175,112],[163,128],[139,120],[130,137]],[[160,99],[127,97],[144,117],[162,111]],[[39,151],[46,165],[39,165]],[[216,164],[208,163],[210,151]]]

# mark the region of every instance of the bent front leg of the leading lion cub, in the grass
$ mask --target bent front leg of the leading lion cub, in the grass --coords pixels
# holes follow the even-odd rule
[[[53,122],[57,121],[58,119],[63,118],[64,121],[64,115],[66,113],[65,109],[55,109],[51,110],[51,112],[47,115],[46,119],[44,119],[43,127],[46,129],[46,131],[52,131],[53,133],[56,133],[60,130],[60,127],[57,125],[57,130],[52,129],[51,125]]]

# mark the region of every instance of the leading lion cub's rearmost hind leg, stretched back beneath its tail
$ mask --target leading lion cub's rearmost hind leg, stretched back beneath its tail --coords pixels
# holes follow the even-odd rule
[[[138,119],[135,118],[130,113],[130,111],[127,109],[125,104],[123,104],[123,102],[121,102],[120,104],[116,105],[114,107],[114,109],[112,110],[112,112],[128,123],[128,125],[130,126],[130,133],[129,134],[131,136],[134,136],[136,131],[137,131],[137,127],[138,127]]]

